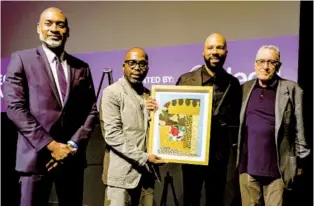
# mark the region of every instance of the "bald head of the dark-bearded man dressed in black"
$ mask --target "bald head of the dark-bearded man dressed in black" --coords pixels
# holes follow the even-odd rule
[[[212,72],[222,69],[227,53],[227,43],[223,35],[213,33],[206,38],[203,52],[204,61]]]

